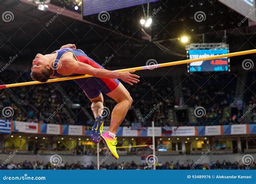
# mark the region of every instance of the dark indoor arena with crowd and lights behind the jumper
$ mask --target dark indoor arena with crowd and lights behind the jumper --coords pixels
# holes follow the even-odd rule
[[[0,0],[0,10],[0,169],[256,169],[256,51],[207,60],[255,49],[253,0]],[[91,102],[73,80],[8,86],[32,81],[35,56],[66,44],[108,70],[144,66],[140,82],[119,79],[132,103],[117,160],[91,140]],[[104,133],[116,102],[103,96]]]

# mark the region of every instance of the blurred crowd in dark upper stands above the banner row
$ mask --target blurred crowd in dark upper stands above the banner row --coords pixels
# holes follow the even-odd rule
[[[255,82],[255,76],[248,75],[250,79],[247,83],[253,83],[253,80]],[[0,74],[0,76],[2,84],[31,80],[29,72],[10,72],[9,75]],[[255,84],[246,91],[244,101],[236,101],[236,83],[237,76],[232,73],[184,74],[179,84],[181,87],[180,91],[178,90],[179,97],[175,98],[171,77],[141,77],[138,85],[124,84],[133,98],[133,104],[122,126],[132,126],[134,123],[151,126],[152,121],[155,122],[155,126],[256,123],[255,107],[251,111],[249,120],[246,118],[239,121],[245,111],[245,104],[256,104],[256,95],[252,93]],[[49,83],[2,90],[0,107],[12,107],[14,109],[12,118],[16,121],[91,125],[93,119],[81,113],[84,108],[93,117],[91,103],[83,90],[73,81],[56,84],[58,87]],[[72,105],[66,102],[67,97],[78,106],[71,107]],[[115,104],[116,102],[109,97],[104,99],[108,115],[105,119],[106,126],[110,124],[111,111]],[[179,114],[174,107],[203,107],[205,116],[197,118],[196,124],[191,124],[191,119],[186,115],[188,112]],[[170,109],[173,109],[173,112],[170,112]],[[137,112],[140,112],[139,118]],[[176,115],[176,119],[171,122],[172,113]],[[173,121],[177,121],[176,124]]]

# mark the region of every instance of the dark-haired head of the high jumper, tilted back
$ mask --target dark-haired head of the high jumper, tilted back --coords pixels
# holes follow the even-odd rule
[[[46,82],[50,79],[52,69],[48,55],[37,54],[32,62],[30,76],[34,81]]]

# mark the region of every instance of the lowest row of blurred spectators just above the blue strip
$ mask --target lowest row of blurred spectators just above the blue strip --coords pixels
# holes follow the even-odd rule
[[[9,164],[6,164],[5,166],[1,167],[2,169],[97,169],[97,164],[95,165],[86,165],[82,162],[77,164],[68,164],[61,162],[58,165],[51,164],[50,162],[44,163],[39,161],[24,161],[20,162],[18,164],[14,162],[10,162]],[[0,168],[0,169],[1,169]],[[117,164],[113,162],[112,164],[105,164],[103,163],[100,165],[100,169],[152,169],[152,165],[147,164],[140,164],[137,165],[134,161],[132,162],[123,162],[122,164]],[[236,161],[234,163],[231,163],[229,161],[216,161],[215,163],[210,162],[209,164],[179,164],[171,162],[166,162],[165,164],[158,162],[156,164],[156,169],[256,169],[255,163],[252,163],[251,165],[244,165],[241,161]]]

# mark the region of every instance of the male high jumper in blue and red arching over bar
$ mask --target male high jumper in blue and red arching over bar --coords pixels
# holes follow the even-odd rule
[[[102,138],[112,156],[119,158],[116,145],[116,132],[131,107],[132,97],[127,89],[117,79],[133,85],[139,82],[139,76],[131,72],[115,72],[104,69],[93,61],[74,44],[62,46],[51,54],[37,54],[32,62],[31,78],[35,81],[46,82],[50,78],[89,74],[93,77],[76,79],[75,82],[83,89],[91,101],[91,110],[95,122],[91,130],[91,139],[98,144]],[[111,114],[109,131],[103,131],[103,95],[106,94],[117,102]]]

